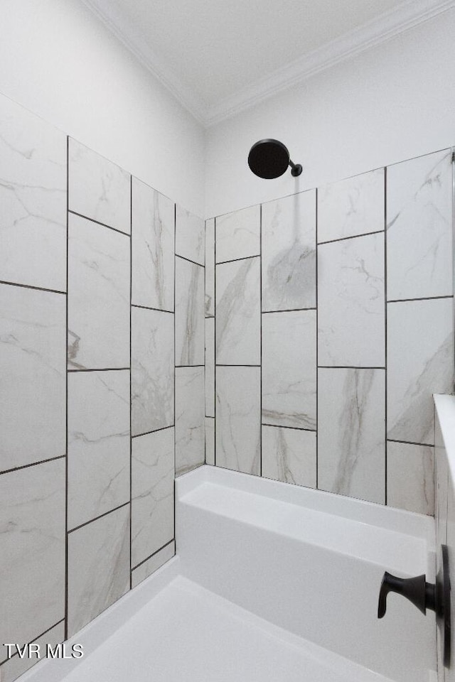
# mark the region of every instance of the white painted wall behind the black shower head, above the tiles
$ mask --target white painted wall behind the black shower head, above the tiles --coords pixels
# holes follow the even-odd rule
[[[455,9],[207,132],[205,215],[314,188],[455,143]],[[260,180],[252,144],[277,138],[303,165]]]

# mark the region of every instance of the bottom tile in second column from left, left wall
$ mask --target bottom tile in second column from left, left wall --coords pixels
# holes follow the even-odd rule
[[[68,637],[129,590],[129,504],[68,535]]]

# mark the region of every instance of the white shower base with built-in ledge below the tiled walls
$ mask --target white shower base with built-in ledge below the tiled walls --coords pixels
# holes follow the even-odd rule
[[[26,682],[434,682],[434,615],[384,570],[434,580],[434,521],[200,467],[176,482],[178,556]]]

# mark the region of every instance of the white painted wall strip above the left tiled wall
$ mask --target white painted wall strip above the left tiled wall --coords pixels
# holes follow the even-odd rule
[[[203,215],[203,129],[80,0],[3,0],[0,93]]]

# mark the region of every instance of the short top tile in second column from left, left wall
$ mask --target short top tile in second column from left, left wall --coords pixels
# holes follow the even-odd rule
[[[70,211],[131,232],[131,176],[72,138],[68,146]]]

